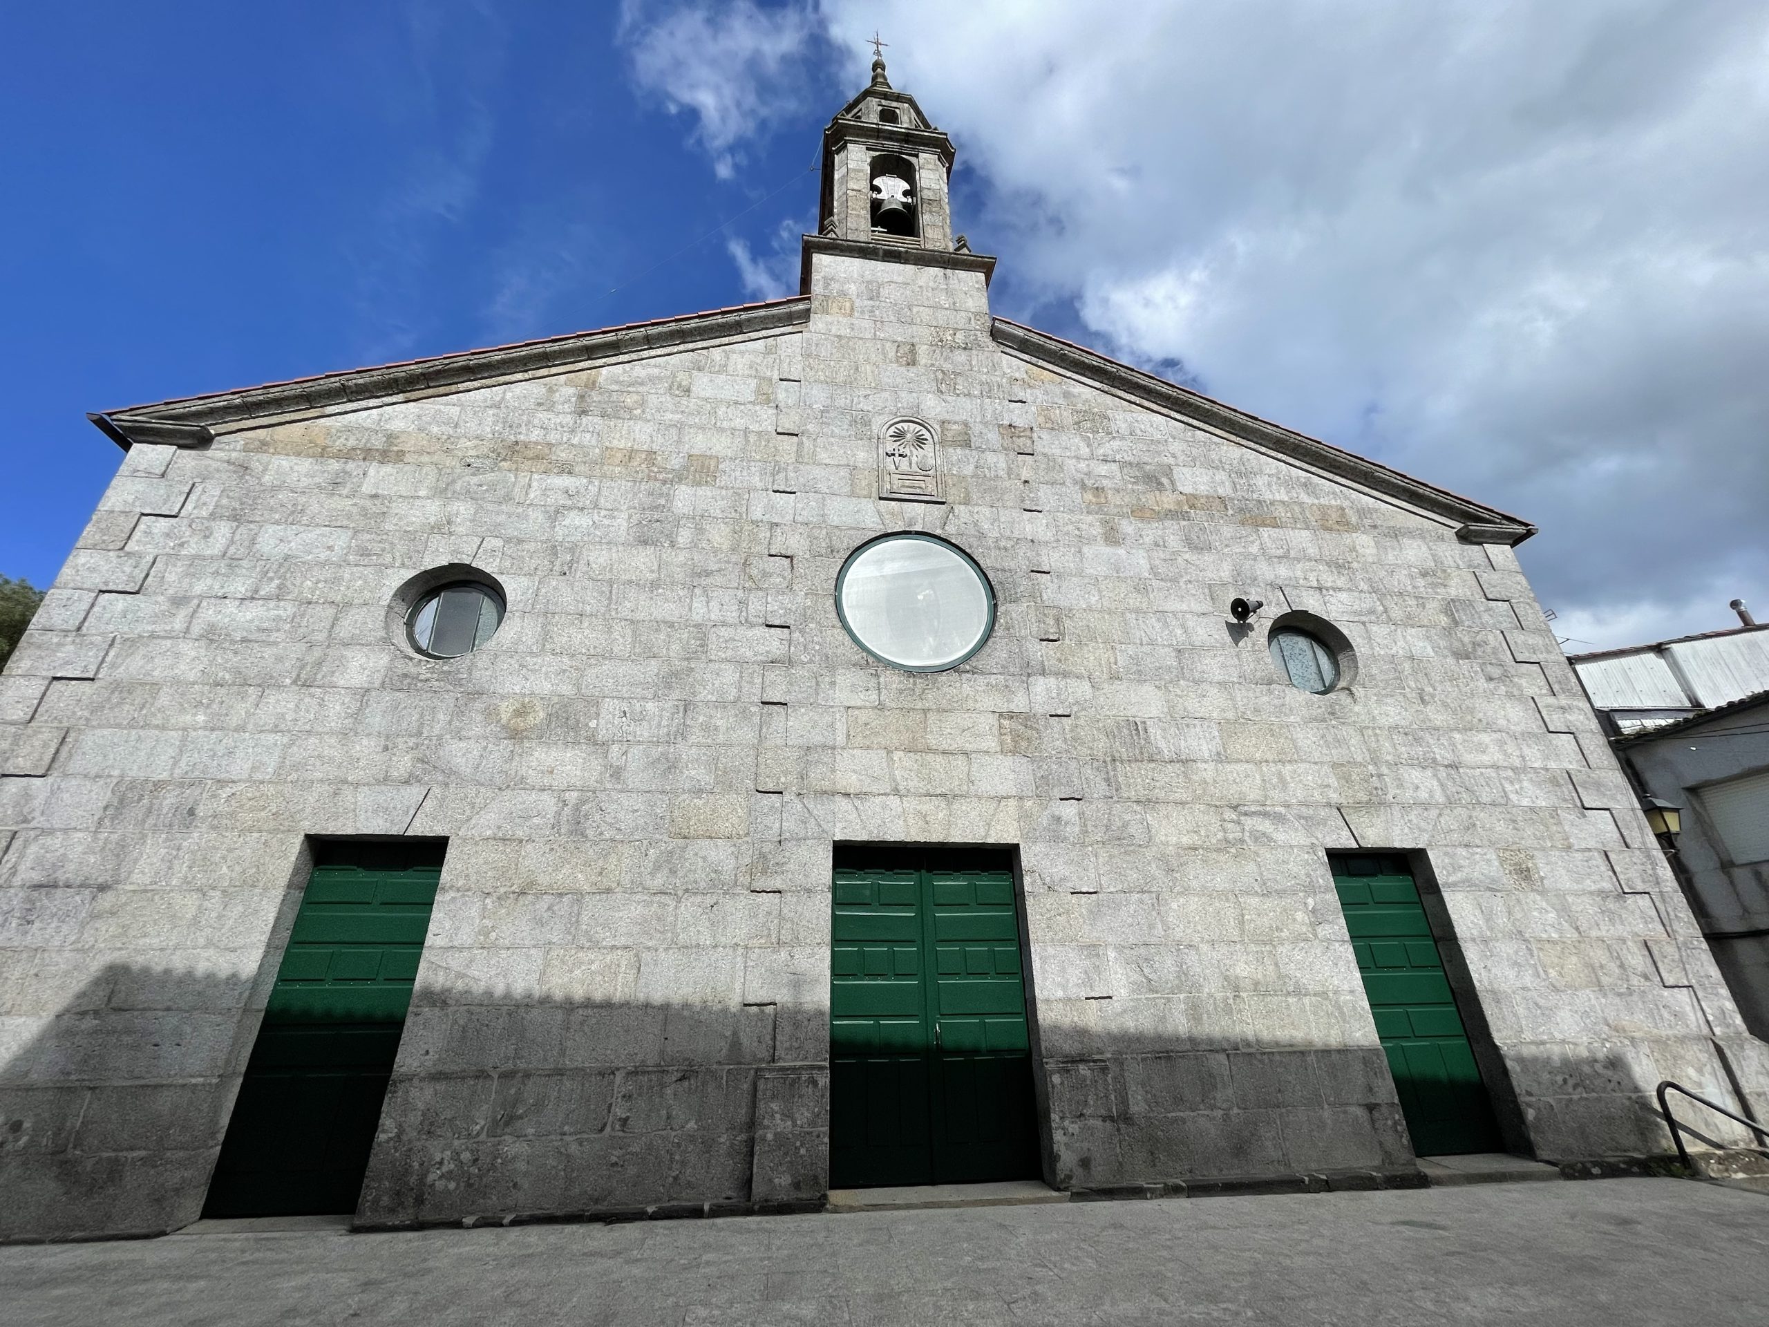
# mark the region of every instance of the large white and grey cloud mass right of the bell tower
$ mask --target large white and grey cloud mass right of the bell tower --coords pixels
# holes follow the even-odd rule
[[[807,9],[768,12],[812,50]],[[1001,311],[1067,304],[1113,354],[1537,522],[1525,564],[1592,644],[1769,605],[1755,0],[817,16],[856,88],[881,27],[980,173],[959,221]],[[766,104],[768,50],[709,104]],[[768,129],[701,111],[715,152]]]

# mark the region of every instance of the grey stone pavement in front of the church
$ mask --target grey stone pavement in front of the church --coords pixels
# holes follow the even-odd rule
[[[9,1327],[1769,1322],[1769,1198],[1688,1180],[0,1249]]]

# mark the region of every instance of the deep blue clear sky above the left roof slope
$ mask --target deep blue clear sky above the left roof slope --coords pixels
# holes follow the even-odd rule
[[[816,94],[718,179],[612,5],[0,21],[0,573],[39,586],[120,456],[87,410],[743,303],[725,239],[816,207],[846,96],[807,65]]]

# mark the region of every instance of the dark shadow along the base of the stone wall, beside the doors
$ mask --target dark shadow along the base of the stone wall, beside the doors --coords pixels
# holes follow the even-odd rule
[[[111,964],[7,1058],[0,1239],[147,1235],[200,1216],[257,1033],[258,1016],[241,1012],[251,986]],[[782,1047],[805,1046],[807,1021],[826,1017],[419,993],[357,1219],[816,1203],[828,1175],[828,1069],[782,1062]],[[1045,1056],[1040,1083],[1045,1178],[1058,1187],[1412,1166],[1376,1047],[1097,1037],[1072,1051]],[[1665,1076],[1734,1101],[1712,1058],[1695,1058],[1686,1039],[1512,1049],[1521,1147],[1534,1139],[1557,1162],[1668,1154],[1654,1072],[1682,1062]],[[1679,1116],[1714,1145],[1746,1141],[1696,1106]]]

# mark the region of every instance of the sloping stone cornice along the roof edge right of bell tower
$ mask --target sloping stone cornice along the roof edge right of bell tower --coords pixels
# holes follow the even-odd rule
[[[1512,545],[1521,543],[1535,533],[1535,525],[1530,525],[1527,520],[1518,520],[1504,511],[1452,494],[1447,488],[1438,488],[1424,479],[1415,479],[1380,462],[1359,456],[1353,451],[1313,439],[1307,433],[1297,433],[1291,428],[1260,419],[1245,410],[1237,410],[1210,396],[1157,379],[1153,373],[1120,364],[1116,359],[1107,359],[1097,350],[1088,350],[1007,318],[994,318],[991,333],[1003,349],[1058,368],[1070,377],[1122,396],[1130,396],[1132,400],[1146,402],[1228,437],[1277,453],[1306,469],[1334,479],[1344,479],[1366,492],[1394,499],[1405,506],[1447,520],[1456,525],[1456,538],[1465,543]]]

